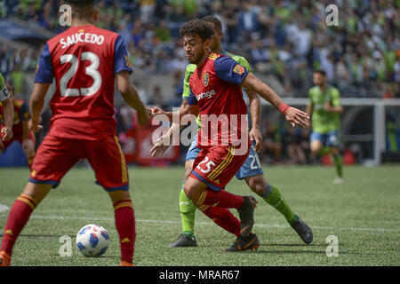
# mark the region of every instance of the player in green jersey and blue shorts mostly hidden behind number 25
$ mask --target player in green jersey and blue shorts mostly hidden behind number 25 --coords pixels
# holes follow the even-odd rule
[[[252,71],[249,63],[244,57],[237,56],[227,51],[223,51],[221,47],[222,39],[222,26],[220,20],[213,16],[204,17],[212,25],[214,29],[214,35],[212,36],[212,51],[217,53],[228,55],[232,59],[235,59],[242,67],[246,68],[250,72]],[[186,108],[188,104],[188,98],[190,97],[189,90],[189,78],[196,69],[195,64],[189,64],[184,80],[184,88],[182,95],[182,106],[181,108]],[[250,90],[245,90],[247,96],[250,99],[250,113],[252,117],[252,129],[249,131],[250,138],[255,141],[255,146],[250,149],[249,156],[244,162],[242,168],[236,173],[238,179],[244,179],[252,189],[254,193],[257,193],[264,201],[269,205],[277,209],[282,215],[284,215],[287,222],[292,225],[292,228],[300,235],[301,240],[306,243],[313,241],[313,234],[311,229],[306,225],[300,217],[298,217],[291,209],[287,201],[285,201],[284,196],[280,191],[273,185],[269,185],[263,176],[263,170],[261,169],[260,160],[256,152],[260,151],[260,146],[262,143],[262,135],[260,131],[260,117],[261,117],[261,106],[260,99],[257,93]],[[197,124],[200,127],[200,119],[197,116]],[[153,156],[158,156],[164,154],[164,151],[168,148],[170,144],[164,143],[165,140],[172,141],[172,135],[174,131],[179,130],[180,125],[172,124],[171,129],[156,141],[155,146],[151,150]],[[167,145],[165,145],[167,144]],[[196,159],[197,154],[199,154],[200,149],[196,147],[196,138],[192,141],[188,154],[186,156],[185,162],[185,177],[180,190],[180,218],[182,222],[182,233],[177,241],[172,243],[170,247],[196,247],[195,232],[195,212],[196,206],[188,198],[188,196],[183,191],[185,181],[193,170],[193,163]]]

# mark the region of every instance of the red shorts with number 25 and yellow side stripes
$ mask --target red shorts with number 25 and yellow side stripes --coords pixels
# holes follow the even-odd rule
[[[250,146],[246,154],[235,154],[235,150],[235,146],[211,146],[202,149],[196,157],[190,177],[200,180],[214,191],[225,189],[246,161]]]

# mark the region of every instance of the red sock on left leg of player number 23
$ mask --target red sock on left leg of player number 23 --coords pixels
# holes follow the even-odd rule
[[[36,202],[28,195],[20,194],[20,197],[14,201],[4,228],[4,236],[0,251],[5,251],[12,256],[12,248],[14,247],[15,241],[17,241],[20,232],[27,224],[35,208]]]

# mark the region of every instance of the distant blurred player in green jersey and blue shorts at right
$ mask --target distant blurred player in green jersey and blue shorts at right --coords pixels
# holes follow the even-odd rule
[[[317,70],[313,75],[316,86],[308,91],[309,103],[307,114],[312,119],[312,133],[310,136],[311,161],[316,159],[324,146],[330,149],[335,164],[336,175],[334,184],[343,183],[342,159],[339,149],[340,113],[343,107],[340,105],[340,92],[328,84],[326,74]]]

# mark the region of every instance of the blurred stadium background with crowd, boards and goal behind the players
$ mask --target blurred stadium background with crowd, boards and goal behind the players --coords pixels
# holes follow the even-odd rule
[[[60,4],[0,1],[0,72],[12,82],[17,96],[27,101],[45,41],[63,30]],[[325,23],[328,4],[339,7],[337,27]],[[400,1],[103,0],[98,6],[97,24],[120,33],[128,45],[132,83],[148,106],[180,106],[187,60],[179,28],[186,20],[213,14],[223,23],[224,49],[248,59],[254,73],[286,102],[304,109],[313,70],[326,71],[345,106],[340,135],[346,164],[400,161]],[[51,99],[50,93],[46,99]],[[308,130],[289,129],[282,115],[261,101],[261,161],[308,163],[288,151],[297,149],[308,156]],[[46,108],[37,145],[50,115]],[[116,95],[117,131],[128,162],[163,166],[184,162],[184,146],[151,159],[148,150],[156,126],[139,131],[133,117],[132,109]],[[4,161],[0,157],[0,166],[7,165]],[[330,159],[324,156],[321,162],[329,164]]]

